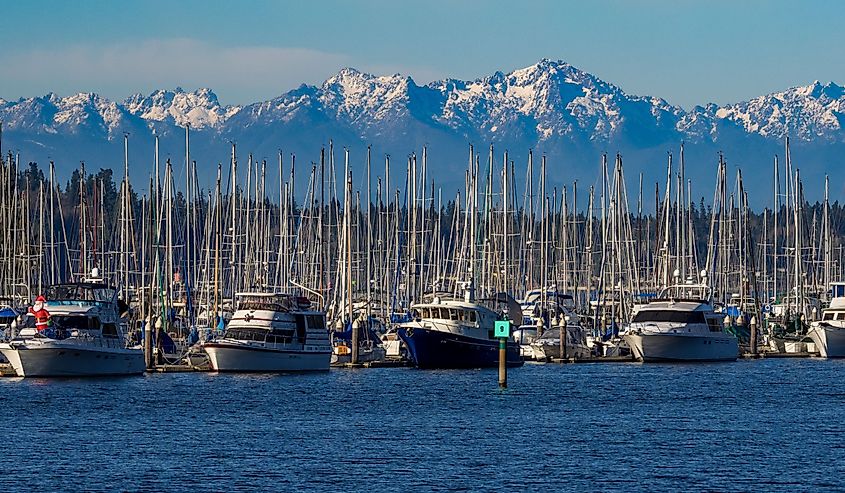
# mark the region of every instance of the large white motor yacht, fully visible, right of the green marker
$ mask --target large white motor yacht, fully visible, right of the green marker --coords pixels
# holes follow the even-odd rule
[[[640,361],[733,361],[736,337],[724,330],[705,284],[669,286],[636,305],[623,339]]]

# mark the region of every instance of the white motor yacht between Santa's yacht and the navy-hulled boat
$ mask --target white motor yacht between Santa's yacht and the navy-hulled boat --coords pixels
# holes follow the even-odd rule
[[[326,314],[302,297],[239,293],[223,336],[203,343],[214,371],[287,372],[329,369]]]

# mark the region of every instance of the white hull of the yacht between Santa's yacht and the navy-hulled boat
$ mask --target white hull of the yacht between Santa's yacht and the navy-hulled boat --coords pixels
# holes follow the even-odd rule
[[[211,369],[219,372],[328,371],[331,351],[295,351],[207,343]]]

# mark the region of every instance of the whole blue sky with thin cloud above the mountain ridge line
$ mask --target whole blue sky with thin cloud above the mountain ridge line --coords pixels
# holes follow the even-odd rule
[[[343,67],[418,84],[541,58],[690,109],[845,84],[845,2],[2,0],[0,98],[209,87],[271,99]]]

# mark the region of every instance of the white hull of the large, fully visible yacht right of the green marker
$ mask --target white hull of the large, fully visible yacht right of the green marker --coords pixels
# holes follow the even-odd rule
[[[623,336],[639,361],[735,361],[736,337],[728,334],[627,334]]]

